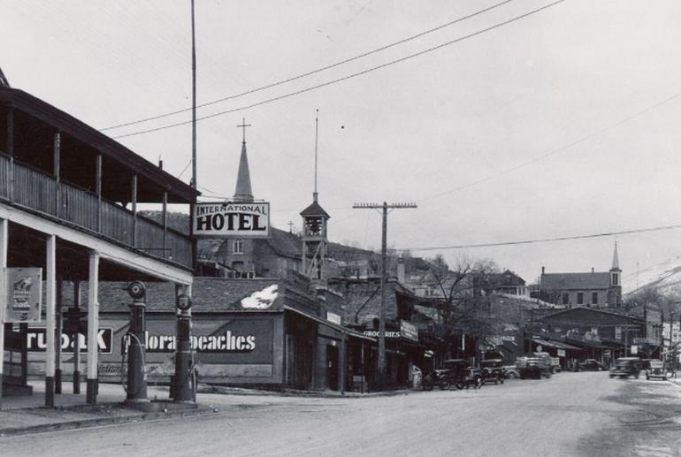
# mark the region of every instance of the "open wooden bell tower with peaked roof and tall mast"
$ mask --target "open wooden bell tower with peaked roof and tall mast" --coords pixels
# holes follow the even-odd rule
[[[317,282],[326,281],[326,228],[331,218],[319,205],[317,192],[319,118],[315,118],[315,190],[312,204],[301,211],[302,216],[302,274]]]

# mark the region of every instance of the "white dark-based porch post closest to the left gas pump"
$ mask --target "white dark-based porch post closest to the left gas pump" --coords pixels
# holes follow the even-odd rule
[[[88,385],[86,401],[97,402],[97,330],[99,329],[99,253],[93,251],[89,259],[88,278]]]

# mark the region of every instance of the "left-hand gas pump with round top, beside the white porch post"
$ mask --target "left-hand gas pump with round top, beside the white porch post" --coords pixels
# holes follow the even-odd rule
[[[139,403],[147,399],[147,374],[144,368],[145,347],[144,333],[146,321],[144,317],[147,289],[141,281],[134,281],[127,286],[127,293],[133,299],[130,305],[130,328],[127,337],[127,383],[126,403]]]

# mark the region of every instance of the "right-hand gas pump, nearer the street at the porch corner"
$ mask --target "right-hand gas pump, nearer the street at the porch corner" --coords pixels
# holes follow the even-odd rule
[[[196,375],[191,349],[192,300],[186,294],[177,295],[177,346],[175,348],[175,376],[172,400],[195,400]]]

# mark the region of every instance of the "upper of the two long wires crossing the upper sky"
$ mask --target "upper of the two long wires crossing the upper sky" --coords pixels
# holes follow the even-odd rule
[[[276,88],[277,86],[281,86],[282,84],[286,84],[288,82],[292,82],[292,81],[295,81],[295,80],[300,80],[302,78],[316,74],[318,72],[325,72],[326,70],[330,70],[330,69],[335,68],[337,66],[348,64],[350,62],[354,62],[355,60],[358,60],[360,58],[371,56],[372,54],[376,54],[377,52],[380,52],[380,51],[383,51],[383,50],[388,50],[390,48],[394,48],[395,46],[398,46],[398,45],[403,44],[405,42],[410,42],[410,41],[416,40],[417,38],[425,36],[426,34],[432,34],[433,32],[437,32],[438,30],[441,30],[443,28],[453,26],[455,24],[458,24],[459,22],[463,22],[464,20],[474,18],[475,16],[483,14],[487,11],[492,11],[495,8],[498,8],[498,7],[500,7],[504,4],[509,4],[510,2],[513,2],[513,1],[514,0],[505,0],[501,3],[499,3],[499,4],[493,4],[492,6],[489,6],[485,9],[472,12],[471,14],[468,14],[467,16],[463,16],[463,17],[458,18],[458,19],[450,20],[449,22],[447,22],[446,24],[442,24],[441,26],[433,27],[431,29],[425,30],[424,32],[421,32],[421,33],[418,33],[418,34],[415,34],[415,35],[411,35],[408,38],[404,38],[404,39],[402,39],[398,42],[392,42],[390,44],[386,44],[385,46],[381,46],[380,48],[377,48],[375,50],[370,50],[370,51],[364,52],[363,54],[359,54],[355,57],[349,57],[345,60],[341,60],[340,62],[336,62],[335,64],[326,65],[326,66],[320,67],[316,70],[311,70],[310,72],[304,72],[304,73],[301,73],[297,76],[292,76],[290,78],[287,78],[286,80],[279,80],[279,81],[276,81],[276,82],[272,82],[270,84],[267,84],[265,86],[261,86],[259,88],[254,88],[254,89],[247,90],[245,92],[241,92],[240,94],[228,95],[226,97],[218,98],[218,99],[212,100],[210,102],[201,103],[201,104],[196,105],[196,107],[197,108],[204,108],[206,106],[210,106],[210,105],[213,105],[213,104],[216,104],[216,103],[222,103],[222,102],[226,102],[227,100],[233,100],[234,98],[239,98],[239,97],[242,97],[244,95],[255,94],[256,92],[260,92],[260,91],[263,91],[265,89]],[[134,126],[135,124],[142,124],[142,122],[149,122],[151,120],[167,118],[169,116],[174,116],[175,114],[181,114],[181,113],[187,112],[189,110],[192,110],[192,109],[191,108],[184,108],[182,110],[170,111],[170,112],[166,112],[164,114],[158,114],[156,116],[150,116],[149,118],[141,118],[141,119],[126,122],[126,123],[123,123],[123,124],[118,124],[116,126],[105,127],[105,128],[100,129],[100,130],[105,131],[105,130],[112,130],[114,128],[119,128],[119,127]]]

